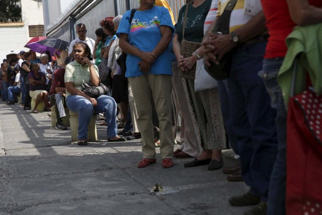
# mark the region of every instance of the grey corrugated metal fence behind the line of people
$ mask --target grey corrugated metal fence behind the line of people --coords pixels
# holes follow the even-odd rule
[[[138,0],[84,0],[83,2],[81,7],[63,17],[61,24],[48,29],[46,36],[71,41],[76,36],[75,24],[84,23],[88,30],[87,36],[95,39],[95,30],[100,27],[99,23],[105,17],[121,15],[127,10],[139,7]],[[168,3],[177,21],[179,10],[185,4],[185,0],[168,0]]]

